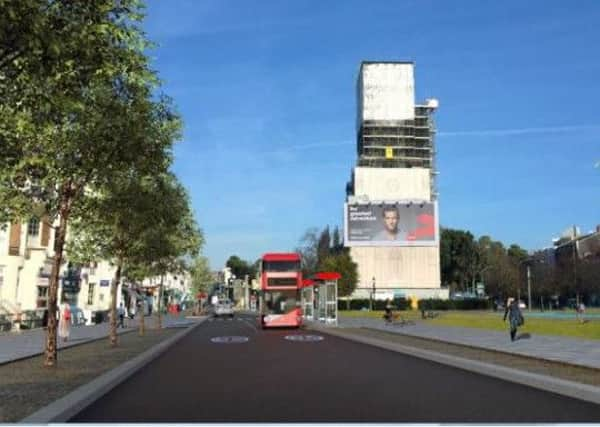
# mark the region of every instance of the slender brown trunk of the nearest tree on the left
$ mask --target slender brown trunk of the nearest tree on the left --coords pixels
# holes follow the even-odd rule
[[[67,235],[67,221],[69,218],[70,202],[71,200],[68,196],[63,197],[61,200],[59,211],[60,221],[58,228],[56,229],[54,240],[54,262],[52,263],[52,273],[50,276],[50,286],[48,289],[48,328],[46,329],[46,350],[44,359],[44,366],[47,367],[56,366],[57,362],[56,329],[58,322],[56,319],[56,313],[58,302],[58,278],[60,266],[62,264],[65,238]]]

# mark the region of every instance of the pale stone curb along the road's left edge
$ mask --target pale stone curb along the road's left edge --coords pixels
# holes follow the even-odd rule
[[[194,325],[187,327],[185,330],[162,341],[154,347],[149,348],[133,359],[111,369],[89,383],[76,388],[60,399],[23,418],[19,423],[49,424],[69,421],[69,419],[83,411],[117,385],[121,384],[148,363],[159,357],[172,345],[177,343],[177,341],[181,340],[204,323],[205,320],[206,319],[201,320]]]

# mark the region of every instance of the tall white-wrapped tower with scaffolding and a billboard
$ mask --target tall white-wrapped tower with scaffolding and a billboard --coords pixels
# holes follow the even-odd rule
[[[437,107],[435,99],[415,103],[414,63],[361,63],[357,161],[344,208],[356,297],[448,296],[440,287]]]

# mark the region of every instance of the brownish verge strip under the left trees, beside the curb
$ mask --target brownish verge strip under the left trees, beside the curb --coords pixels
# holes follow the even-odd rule
[[[44,368],[44,356],[0,366],[0,423],[17,422],[116,366],[134,358],[181,329],[147,329],[59,350],[56,368]]]

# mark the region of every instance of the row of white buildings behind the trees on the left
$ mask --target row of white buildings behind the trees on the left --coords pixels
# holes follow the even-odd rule
[[[6,323],[17,312],[41,318],[48,306],[53,248],[54,228],[47,221],[32,219],[0,227],[0,321]],[[64,258],[58,303],[68,303],[80,313],[75,321],[90,322],[95,313],[109,309],[116,268],[103,260],[74,265],[69,262],[68,253]],[[189,294],[191,280],[187,274],[167,274],[162,282],[166,300],[181,301]],[[148,307],[156,307],[160,283],[159,277],[135,286],[119,283],[117,305],[123,303],[133,311],[138,301],[146,299]]]

